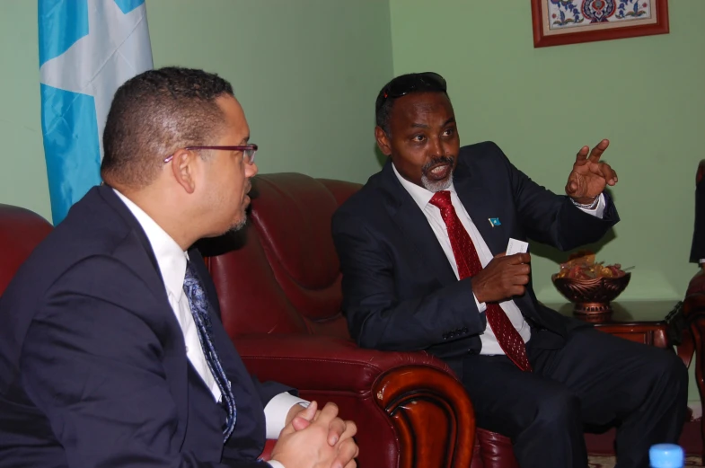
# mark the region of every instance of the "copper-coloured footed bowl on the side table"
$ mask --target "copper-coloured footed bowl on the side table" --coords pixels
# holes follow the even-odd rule
[[[612,313],[610,302],[621,294],[630,282],[631,273],[616,278],[557,278],[553,275],[553,285],[574,305],[577,315],[600,315]]]

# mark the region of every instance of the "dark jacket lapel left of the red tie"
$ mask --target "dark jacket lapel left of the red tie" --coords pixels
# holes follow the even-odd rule
[[[446,285],[457,281],[453,268],[448,263],[441,244],[436,239],[436,234],[428,224],[419,205],[397,179],[392,169],[391,160],[384,164],[382,175],[383,190],[388,190],[391,195],[390,202],[387,203],[387,210],[404,236],[414,244],[416,252],[423,259],[423,264],[427,265],[441,284]]]

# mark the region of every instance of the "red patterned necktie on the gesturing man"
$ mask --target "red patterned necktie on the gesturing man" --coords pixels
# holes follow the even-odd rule
[[[430,203],[441,210],[441,217],[443,217],[445,227],[448,229],[448,237],[451,241],[451,247],[453,247],[455,262],[458,264],[458,276],[463,279],[477,275],[482,269],[482,264],[470,235],[465,231],[458,215],[455,214],[455,208],[451,203],[451,192],[448,190],[437,191]],[[529,364],[529,358],[526,357],[524,340],[507,317],[507,313],[497,303],[488,303],[485,315],[507,358],[510,358],[520,369],[531,371],[532,367]]]

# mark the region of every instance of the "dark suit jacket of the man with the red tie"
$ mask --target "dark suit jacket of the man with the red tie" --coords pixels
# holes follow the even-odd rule
[[[609,198],[603,219],[576,208],[518,171],[494,143],[463,146],[454,187],[493,255],[510,237],[569,250],[602,237],[618,221]],[[490,217],[501,225],[492,227]],[[472,296],[471,278],[458,281],[426,216],[391,161],[333,216],[343,273],[343,310],[350,334],[375,349],[426,349],[461,375],[460,360],[478,353],[487,322]],[[580,322],[543,307],[531,283],[516,305],[532,325],[534,346],[557,349]]]

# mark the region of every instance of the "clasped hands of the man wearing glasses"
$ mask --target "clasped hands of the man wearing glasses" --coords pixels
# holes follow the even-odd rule
[[[335,403],[319,411],[311,402],[282,429],[271,458],[286,468],[355,468],[356,433],[353,421],[338,417]]]

